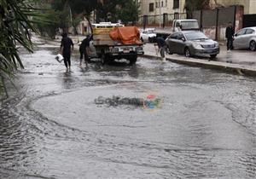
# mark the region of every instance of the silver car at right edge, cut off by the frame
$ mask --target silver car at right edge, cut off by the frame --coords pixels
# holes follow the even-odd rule
[[[233,41],[233,46],[236,49],[251,49],[256,50],[256,26],[246,27],[236,32]]]

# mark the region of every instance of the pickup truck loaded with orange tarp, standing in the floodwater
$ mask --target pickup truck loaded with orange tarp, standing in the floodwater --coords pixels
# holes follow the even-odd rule
[[[101,22],[99,24],[92,24],[92,30],[93,49],[96,50],[94,53],[96,56],[94,57],[100,58],[102,64],[126,59],[132,65],[136,63],[137,55],[144,53],[143,43],[139,39],[139,31],[135,26],[126,27],[119,23]],[[124,40],[124,37],[120,36],[124,35],[125,32],[129,32],[129,36],[125,37]],[[136,32],[138,32],[138,35]],[[134,36],[131,36],[132,33],[134,33]]]

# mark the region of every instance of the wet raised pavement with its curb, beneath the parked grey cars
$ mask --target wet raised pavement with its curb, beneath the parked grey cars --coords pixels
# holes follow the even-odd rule
[[[144,44],[144,56],[149,58],[160,58],[156,55],[154,43]],[[222,70],[225,72],[236,72],[256,76],[256,52],[236,49],[227,52],[225,46],[220,46],[220,53],[214,61],[209,61],[208,57],[187,58],[184,55],[166,55],[167,61],[185,64],[189,66],[201,66]]]

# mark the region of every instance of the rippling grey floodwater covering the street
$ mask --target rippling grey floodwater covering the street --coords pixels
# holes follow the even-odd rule
[[[66,72],[46,46],[22,54],[1,106],[0,178],[256,177],[254,78],[77,54]]]

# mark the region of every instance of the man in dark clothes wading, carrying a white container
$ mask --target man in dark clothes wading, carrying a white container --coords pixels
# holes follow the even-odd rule
[[[71,46],[72,46],[72,49],[71,49]],[[71,38],[67,37],[66,32],[62,34],[60,50],[61,50],[61,54],[63,55],[64,63],[67,68],[67,71],[68,70],[70,71],[70,66],[71,66],[70,55],[71,55],[71,52],[73,51],[73,41]]]

